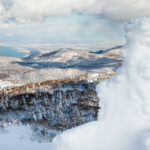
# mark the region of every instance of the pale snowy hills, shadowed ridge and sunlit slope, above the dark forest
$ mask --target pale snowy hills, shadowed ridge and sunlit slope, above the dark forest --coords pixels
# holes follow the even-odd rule
[[[0,79],[14,83],[42,82],[91,74],[114,74],[121,65],[120,49],[104,54],[75,50],[35,53],[21,58],[0,57]]]

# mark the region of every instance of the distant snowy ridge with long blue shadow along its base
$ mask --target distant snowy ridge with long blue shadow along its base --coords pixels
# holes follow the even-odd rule
[[[120,47],[109,49],[103,53],[99,51],[88,53],[77,50],[62,49],[48,53],[33,53],[18,62],[23,66],[33,68],[77,68],[100,69],[105,67],[115,68],[121,63],[118,53]],[[100,54],[99,54],[100,53]]]

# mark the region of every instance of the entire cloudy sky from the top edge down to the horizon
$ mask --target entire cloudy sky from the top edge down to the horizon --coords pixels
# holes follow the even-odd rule
[[[121,41],[124,23],[147,15],[149,0],[0,0],[0,42]]]

